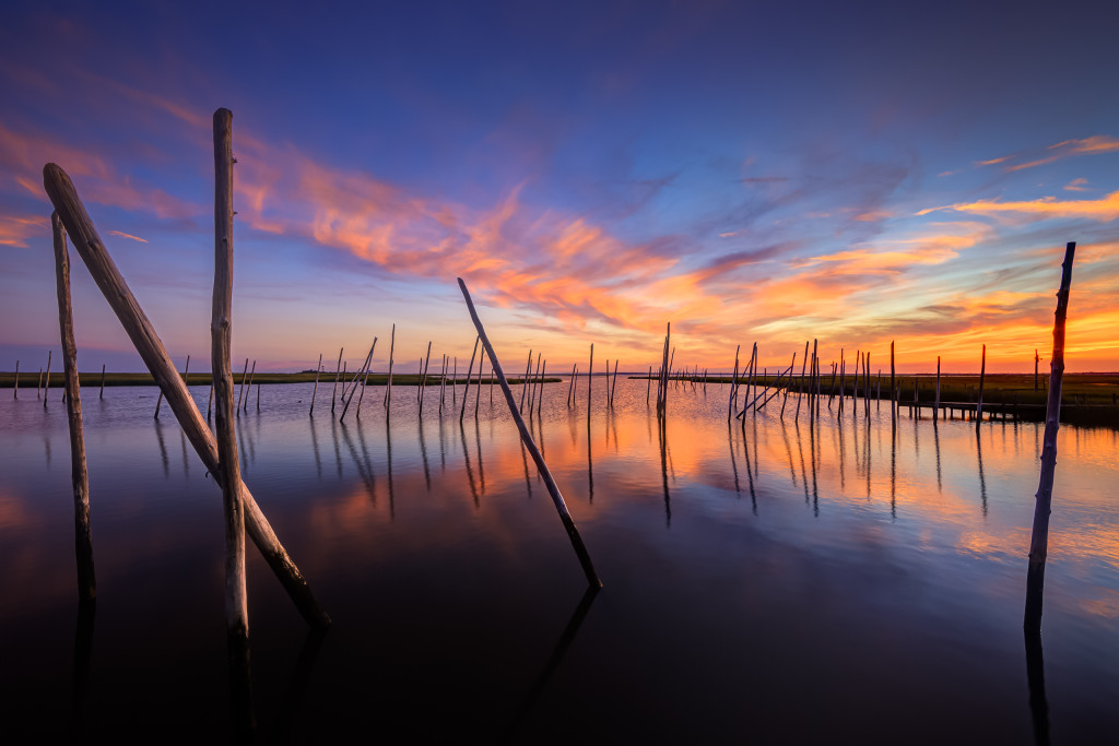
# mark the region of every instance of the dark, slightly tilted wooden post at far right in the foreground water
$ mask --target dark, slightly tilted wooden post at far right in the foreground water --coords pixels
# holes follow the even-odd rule
[[[1045,407],[1045,436],[1042,441],[1042,472],[1034,497],[1034,526],[1029,538],[1029,568],[1026,572],[1027,631],[1042,629],[1042,595],[1045,589],[1045,558],[1049,555],[1049,517],[1052,512],[1053,474],[1056,471],[1056,432],[1061,426],[1061,380],[1064,376],[1064,320],[1069,314],[1069,289],[1072,285],[1072,259],[1076,244],[1064,249],[1061,290],[1056,294],[1053,320],[1053,357],[1050,362],[1050,390]]]

